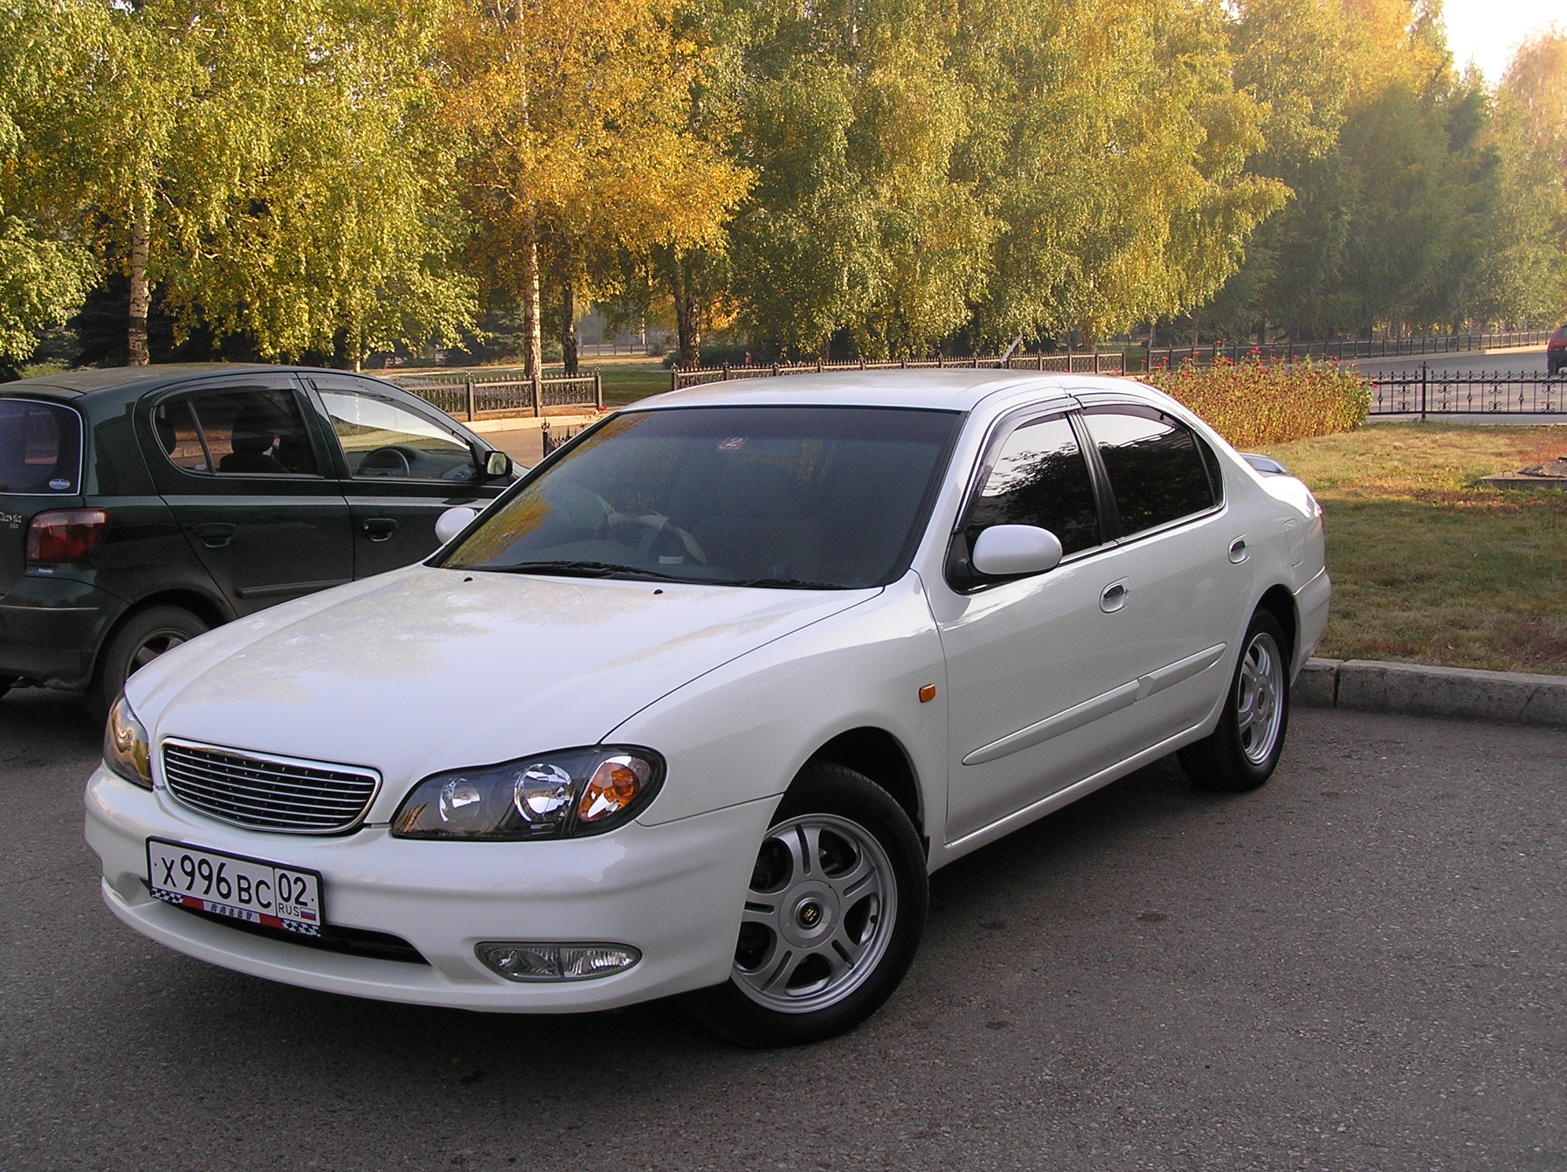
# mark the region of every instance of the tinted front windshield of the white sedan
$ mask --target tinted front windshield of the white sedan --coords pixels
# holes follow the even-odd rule
[[[852,589],[895,580],[959,415],[680,407],[616,415],[495,506],[450,569]]]

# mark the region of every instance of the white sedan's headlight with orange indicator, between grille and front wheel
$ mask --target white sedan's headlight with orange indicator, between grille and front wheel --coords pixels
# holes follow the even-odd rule
[[[663,780],[663,757],[624,744],[454,769],[414,787],[392,818],[392,837],[517,841],[603,834],[641,813]]]

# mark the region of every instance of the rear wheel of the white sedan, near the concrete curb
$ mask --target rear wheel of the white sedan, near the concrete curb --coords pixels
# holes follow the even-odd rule
[[[1258,663],[1258,655],[1271,660],[1266,671],[1260,671],[1263,664]],[[1271,696],[1265,697],[1258,688],[1260,675],[1268,677],[1266,688]],[[1277,725],[1271,727],[1274,714]],[[1269,727],[1258,729],[1258,721],[1265,721]],[[1246,628],[1219,724],[1211,735],[1180,751],[1182,769],[1207,790],[1255,790],[1279,768],[1288,729],[1288,644],[1279,620],[1269,611],[1258,610]]]

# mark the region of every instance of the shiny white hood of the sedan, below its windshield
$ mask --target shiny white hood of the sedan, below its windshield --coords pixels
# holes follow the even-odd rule
[[[412,566],[204,635],[125,693],[155,743],[367,765],[385,798],[439,769],[594,744],[674,688],[874,594]]]

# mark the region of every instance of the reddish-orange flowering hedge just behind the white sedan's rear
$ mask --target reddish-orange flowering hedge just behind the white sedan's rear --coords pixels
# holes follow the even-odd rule
[[[1337,362],[1188,364],[1144,376],[1238,448],[1332,436],[1360,426],[1370,384]]]

